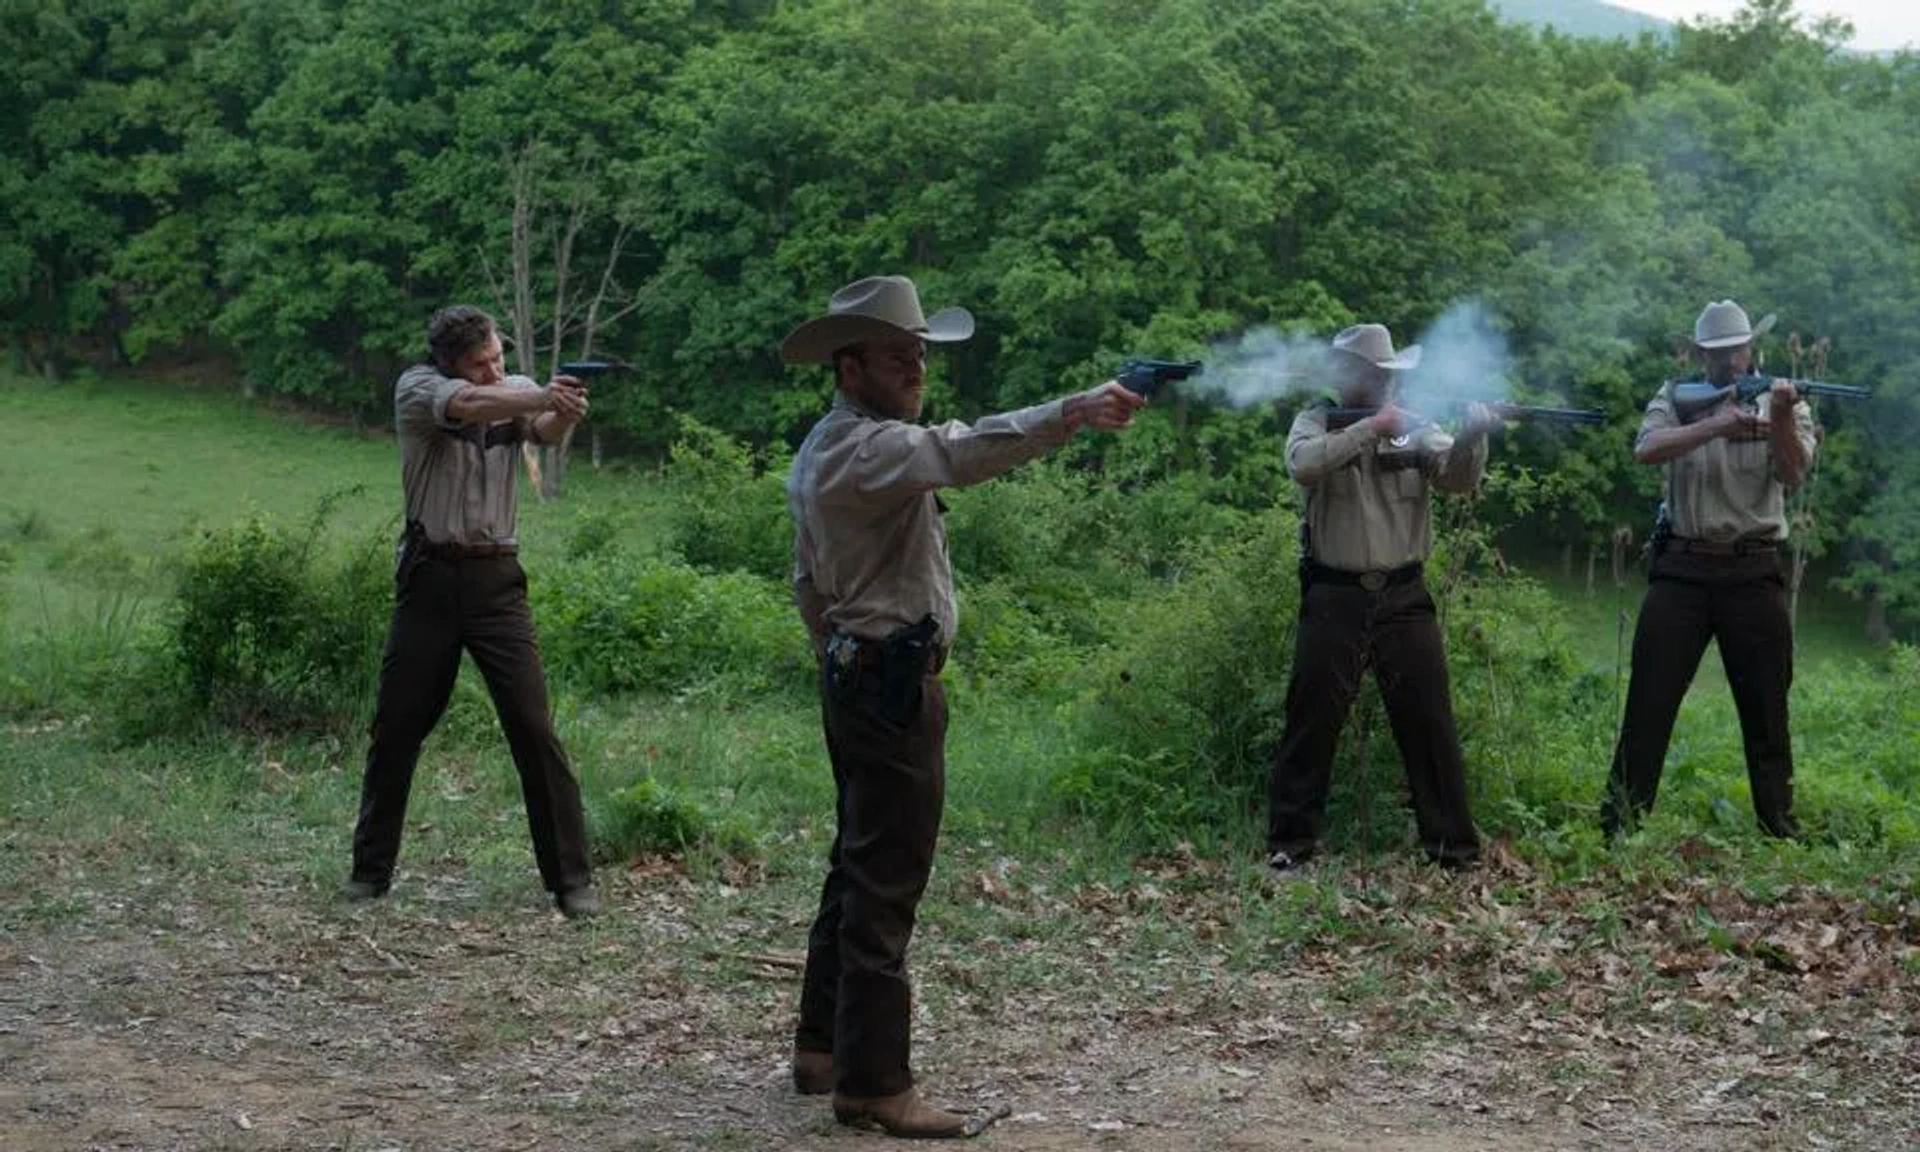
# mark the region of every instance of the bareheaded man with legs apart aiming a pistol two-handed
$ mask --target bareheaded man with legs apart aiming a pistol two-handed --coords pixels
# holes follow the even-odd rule
[[[351,900],[386,895],[420,743],[447,710],[461,649],[486,678],[513,749],[534,860],[568,918],[599,912],[580,783],[547,712],[547,682],[515,538],[520,442],[559,444],[588,413],[572,376],[509,376],[493,319],[455,305],[426,328],[428,363],[394,386],[407,528],[394,622],[353,828]]]

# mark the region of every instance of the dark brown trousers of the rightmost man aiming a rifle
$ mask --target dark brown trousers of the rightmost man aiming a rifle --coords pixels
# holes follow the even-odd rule
[[[1778,553],[1715,557],[1663,551],[1653,559],[1634,626],[1626,716],[1599,812],[1609,837],[1653,810],[1674,718],[1709,639],[1718,641],[1726,684],[1734,689],[1753,812],[1768,835],[1799,833],[1793,822],[1793,741],[1788,733],[1793,618],[1780,564]]]

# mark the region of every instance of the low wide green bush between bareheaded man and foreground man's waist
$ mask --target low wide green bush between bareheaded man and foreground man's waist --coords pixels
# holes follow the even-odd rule
[[[555,676],[603,693],[739,697],[808,687],[812,653],[785,588],[601,551],[532,586]]]

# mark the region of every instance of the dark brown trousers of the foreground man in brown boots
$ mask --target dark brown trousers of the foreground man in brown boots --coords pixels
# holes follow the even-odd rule
[[[837,831],[793,1044],[833,1054],[839,1092],[891,1096],[914,1083],[906,945],[941,835],[947,693],[927,676],[902,728],[879,714],[877,670],[862,668],[845,693],[820,682]]]

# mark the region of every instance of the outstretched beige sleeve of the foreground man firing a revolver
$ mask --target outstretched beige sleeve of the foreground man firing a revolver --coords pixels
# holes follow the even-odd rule
[[[1068,440],[1066,401],[925,428],[883,420],[841,478],[862,495],[914,495],[993,480]]]

